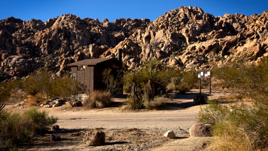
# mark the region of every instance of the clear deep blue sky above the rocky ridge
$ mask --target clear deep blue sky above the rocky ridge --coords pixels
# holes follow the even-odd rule
[[[163,13],[180,6],[200,7],[214,16],[223,16],[225,13],[250,16],[268,11],[268,0],[1,0],[0,4],[0,20],[13,16],[24,21],[32,18],[47,21],[62,14],[74,14],[81,19],[98,18],[100,21],[107,18],[111,22],[118,18],[148,18],[153,21]]]

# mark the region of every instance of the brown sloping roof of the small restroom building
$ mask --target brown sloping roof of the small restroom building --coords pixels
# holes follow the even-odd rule
[[[95,59],[84,59],[84,60],[81,60],[81,61],[70,63],[67,66],[97,65],[99,63],[102,63],[102,62],[105,62],[105,61],[108,61],[108,60],[115,60],[115,61],[119,62],[116,58],[95,58]]]

